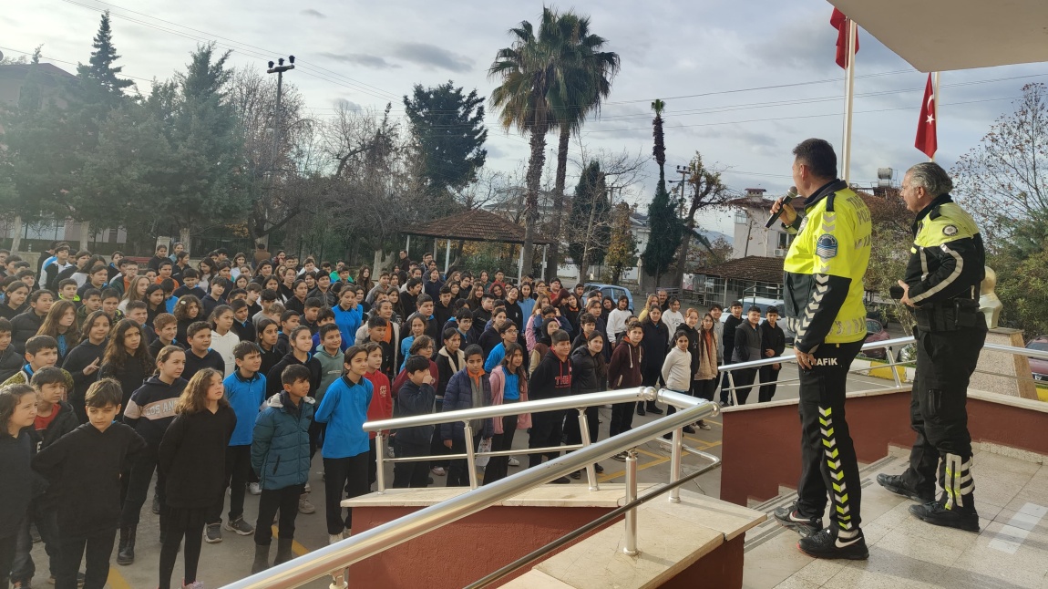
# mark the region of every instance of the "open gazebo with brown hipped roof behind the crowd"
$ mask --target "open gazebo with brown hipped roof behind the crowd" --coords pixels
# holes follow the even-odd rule
[[[452,257],[452,240],[460,241],[486,241],[494,243],[520,244],[520,257],[517,261],[517,281],[520,282],[524,272],[524,227],[504,219],[495,213],[475,209],[435,219],[425,223],[420,223],[400,231],[408,236],[406,249],[411,247],[411,236],[432,237],[433,257],[437,257],[437,239],[446,241],[446,252],[444,253],[444,272],[447,272]],[[536,237],[536,245],[542,245],[542,269],[546,270],[547,246],[552,240]]]

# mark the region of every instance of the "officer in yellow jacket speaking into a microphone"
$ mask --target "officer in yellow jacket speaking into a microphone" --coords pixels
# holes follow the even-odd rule
[[[859,529],[858,463],[845,420],[848,369],[866,339],[863,276],[870,261],[870,212],[844,180],[823,139],[793,149],[793,181],[805,196],[803,219],[782,209],[795,237],[785,260],[785,317],[796,334],[801,375],[801,480],[798,501],[776,519],[802,536],[798,547],[822,559],[869,557]],[[823,511],[830,502],[830,523]]]

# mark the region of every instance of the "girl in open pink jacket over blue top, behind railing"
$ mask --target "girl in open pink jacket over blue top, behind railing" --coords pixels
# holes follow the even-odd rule
[[[520,344],[506,346],[502,364],[492,370],[492,405],[507,405],[527,400],[527,369],[524,368],[524,348]],[[531,414],[505,415],[492,420],[492,452],[512,450],[517,430],[531,427]],[[506,478],[509,456],[493,456],[484,467],[484,484]]]

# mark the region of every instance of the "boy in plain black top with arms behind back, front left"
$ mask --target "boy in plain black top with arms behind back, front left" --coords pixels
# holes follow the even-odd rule
[[[101,589],[121,514],[121,473],[146,448],[129,426],[114,421],[124,391],[112,378],[87,390],[88,422],[41,450],[32,468],[47,479],[56,498],[59,564],[56,589],[77,589],[77,571],[87,554],[85,589]]]

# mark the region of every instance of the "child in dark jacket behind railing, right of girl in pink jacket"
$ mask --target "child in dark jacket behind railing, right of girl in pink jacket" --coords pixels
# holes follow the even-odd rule
[[[531,379],[528,383],[529,400],[563,397],[571,394],[571,336],[567,331],[558,329],[550,336],[551,346],[546,356],[539,362]],[[564,411],[545,411],[531,414],[531,434],[528,437],[528,448],[549,448],[561,445],[564,435]],[[560,452],[547,452],[546,458],[553,460]],[[528,465],[538,466],[542,463],[543,454],[529,454]],[[571,482],[568,477],[551,481],[556,484]]]

